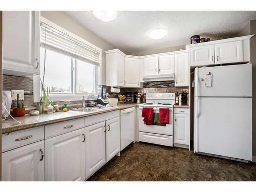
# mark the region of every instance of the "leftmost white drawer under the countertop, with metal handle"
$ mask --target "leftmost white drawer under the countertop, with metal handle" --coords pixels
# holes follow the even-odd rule
[[[36,141],[44,140],[44,126],[17,131],[3,135],[2,151],[6,152]]]

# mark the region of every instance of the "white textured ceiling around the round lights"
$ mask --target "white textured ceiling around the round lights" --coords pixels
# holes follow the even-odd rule
[[[126,54],[189,44],[196,34],[211,40],[234,37],[256,19],[256,11],[118,11],[112,22],[98,20],[91,11],[65,13]],[[148,37],[156,27],[167,29],[167,36]]]

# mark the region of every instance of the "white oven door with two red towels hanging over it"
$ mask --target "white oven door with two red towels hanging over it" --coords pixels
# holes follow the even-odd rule
[[[173,135],[173,108],[169,108],[170,110],[170,117],[169,117],[169,124],[162,124],[159,122],[159,108],[154,108],[154,123],[153,125],[145,125],[144,124],[144,117],[141,117],[142,108],[139,107],[139,131],[140,132],[147,132],[147,133],[157,133],[163,135]]]

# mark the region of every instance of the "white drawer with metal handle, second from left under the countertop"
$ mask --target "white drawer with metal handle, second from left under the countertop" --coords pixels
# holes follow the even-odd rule
[[[45,139],[84,127],[84,118],[63,121],[45,126]]]

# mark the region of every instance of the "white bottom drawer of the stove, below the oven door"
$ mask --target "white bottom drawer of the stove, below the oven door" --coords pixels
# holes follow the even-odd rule
[[[169,135],[160,135],[154,133],[139,133],[139,140],[147,143],[155,143],[165,146],[173,146],[173,136]]]

